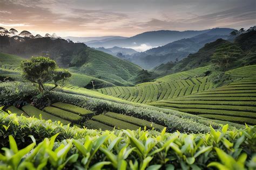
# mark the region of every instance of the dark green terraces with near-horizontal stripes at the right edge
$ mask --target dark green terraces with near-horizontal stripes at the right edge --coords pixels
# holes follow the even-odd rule
[[[256,124],[256,78],[243,78],[217,89],[160,100],[150,105],[210,119]]]

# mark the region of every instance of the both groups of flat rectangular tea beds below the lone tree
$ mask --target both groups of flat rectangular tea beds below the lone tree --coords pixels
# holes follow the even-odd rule
[[[146,126],[147,128],[155,128],[159,131],[163,130],[164,126],[150,123],[149,121],[134,118],[128,115],[107,112],[92,117],[94,113],[85,108],[78,107],[62,102],[54,103],[52,106],[45,107],[43,111],[31,105],[25,105],[21,110],[15,106],[6,108],[6,111],[11,111],[17,115],[25,115],[26,117],[36,117],[52,121],[60,121],[63,124],[79,123],[87,119],[84,126],[93,129],[113,130],[114,127],[119,129],[137,130],[139,127]],[[88,120],[92,117],[91,120]]]

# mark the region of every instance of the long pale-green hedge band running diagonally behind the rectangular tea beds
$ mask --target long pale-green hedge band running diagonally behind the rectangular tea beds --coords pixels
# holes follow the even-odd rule
[[[34,89],[35,91],[33,91]],[[31,99],[37,96],[38,91],[30,83],[0,83],[0,106],[12,105],[16,100]],[[8,100],[6,100],[8,99]],[[144,119],[159,125],[167,127],[168,132],[208,132],[211,125],[215,129],[221,128],[219,123],[212,120],[198,117],[184,112],[159,108],[149,105],[129,103],[128,101],[120,101],[113,97],[104,96],[95,91],[80,88],[77,90],[66,90],[56,88],[55,91],[47,92],[45,99],[51,101],[46,102],[44,106],[49,106],[56,102],[69,103],[79,107],[87,108],[91,111],[101,114],[103,112],[116,112],[139,119]],[[39,105],[42,107],[39,102]],[[72,118],[71,118],[72,119]],[[230,128],[244,128],[244,125],[230,124]]]

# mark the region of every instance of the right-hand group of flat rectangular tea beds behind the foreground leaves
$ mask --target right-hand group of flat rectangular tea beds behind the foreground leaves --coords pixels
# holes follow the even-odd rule
[[[154,128],[158,131],[163,130],[164,126],[151,123],[149,121],[131,117],[129,115],[107,112],[92,117],[84,125],[93,129],[111,130],[114,127],[117,129],[137,130],[139,127]]]

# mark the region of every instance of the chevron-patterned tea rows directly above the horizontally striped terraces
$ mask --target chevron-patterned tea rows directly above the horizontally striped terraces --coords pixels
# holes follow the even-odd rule
[[[98,91],[136,103],[151,103],[162,99],[183,97],[211,89],[208,77],[190,78],[177,81],[143,83],[134,87],[107,87]]]

